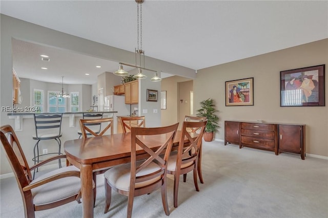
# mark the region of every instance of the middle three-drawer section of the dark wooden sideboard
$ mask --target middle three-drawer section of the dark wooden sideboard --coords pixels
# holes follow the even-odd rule
[[[277,124],[241,123],[240,147],[275,151],[278,155]]]

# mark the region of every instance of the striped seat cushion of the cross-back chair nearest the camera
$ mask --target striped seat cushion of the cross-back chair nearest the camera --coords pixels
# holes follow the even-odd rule
[[[137,161],[136,165],[139,166],[142,162],[143,161]],[[140,172],[138,172],[136,176],[137,177],[144,176],[149,173],[155,172],[159,169],[160,169],[160,167],[157,164],[152,162],[146,168],[144,168]],[[107,182],[111,187],[115,187],[120,190],[129,191],[130,177],[131,177],[131,164],[127,163],[127,164],[122,164],[122,165],[113,167],[104,173],[104,177],[107,179]],[[149,184],[152,184],[152,183],[158,181],[159,179],[160,179],[160,176],[156,177],[152,180],[136,183],[135,188],[147,186]]]

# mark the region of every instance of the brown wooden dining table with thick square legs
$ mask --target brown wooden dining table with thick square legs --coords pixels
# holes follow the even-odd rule
[[[174,138],[172,150],[177,150],[181,131],[177,131]],[[191,134],[197,137],[197,134]],[[153,149],[160,146],[158,136],[147,137],[145,142],[151,142]],[[157,143],[158,142],[158,143]],[[147,143],[149,144],[149,143]],[[185,137],[185,145],[189,139]],[[93,180],[92,171],[130,163],[131,160],[131,133],[97,136],[86,139],[68,140],[64,143],[67,161],[80,169],[81,195],[83,203],[83,217],[93,217]],[[137,159],[146,158],[145,152],[137,146]],[[198,161],[198,172],[201,170],[200,158]]]

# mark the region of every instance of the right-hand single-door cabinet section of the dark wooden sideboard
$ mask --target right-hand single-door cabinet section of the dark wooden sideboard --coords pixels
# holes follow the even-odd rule
[[[292,152],[305,158],[305,125],[279,124],[279,152]]]

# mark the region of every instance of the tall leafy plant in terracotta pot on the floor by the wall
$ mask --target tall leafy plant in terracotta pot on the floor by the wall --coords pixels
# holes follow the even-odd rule
[[[209,98],[200,102],[201,108],[197,110],[197,117],[207,117],[207,124],[204,131],[204,140],[207,142],[213,141],[215,132],[218,132],[219,117],[215,114],[218,112],[215,110],[214,100]]]

